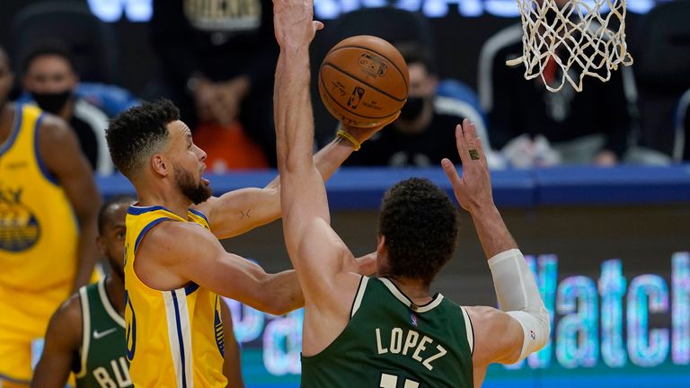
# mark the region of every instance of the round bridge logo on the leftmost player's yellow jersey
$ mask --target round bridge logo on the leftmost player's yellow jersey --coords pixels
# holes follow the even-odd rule
[[[26,251],[39,241],[39,220],[22,203],[22,191],[0,188],[0,251]]]

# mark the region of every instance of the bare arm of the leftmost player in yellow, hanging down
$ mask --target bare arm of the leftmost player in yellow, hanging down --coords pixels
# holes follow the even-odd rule
[[[73,289],[76,291],[89,282],[96,258],[100,257],[96,248],[96,218],[101,196],[79,142],[64,121],[45,116],[40,128],[39,147],[41,158],[65,190],[78,221],[80,231]]]

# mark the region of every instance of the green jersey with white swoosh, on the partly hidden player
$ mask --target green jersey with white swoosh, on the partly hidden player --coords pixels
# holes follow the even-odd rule
[[[131,387],[125,358],[125,319],[105,293],[105,280],[79,289],[82,303],[80,368],[77,388]]]

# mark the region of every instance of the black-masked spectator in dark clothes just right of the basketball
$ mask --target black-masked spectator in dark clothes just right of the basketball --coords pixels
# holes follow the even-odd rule
[[[429,54],[418,45],[401,46],[410,72],[407,102],[388,128],[369,139],[367,147],[352,154],[348,165],[429,167],[450,157],[460,163],[455,143],[456,125],[463,116],[441,113],[436,101],[438,77]]]

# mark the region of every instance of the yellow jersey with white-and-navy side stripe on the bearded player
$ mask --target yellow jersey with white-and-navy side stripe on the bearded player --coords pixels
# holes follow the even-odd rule
[[[147,287],[134,272],[137,248],[162,222],[208,229],[196,210],[188,219],[164,207],[129,207],[125,238],[125,321],[129,375],[141,387],[225,387],[223,322],[218,295],[190,283],[169,291]],[[194,258],[190,258],[194,260]]]

